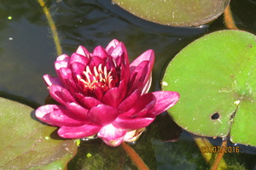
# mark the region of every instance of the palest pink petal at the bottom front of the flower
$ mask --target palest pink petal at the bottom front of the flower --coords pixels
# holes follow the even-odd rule
[[[97,136],[102,139],[114,140],[124,137],[125,133],[126,130],[114,127],[112,124],[108,124],[102,127]]]

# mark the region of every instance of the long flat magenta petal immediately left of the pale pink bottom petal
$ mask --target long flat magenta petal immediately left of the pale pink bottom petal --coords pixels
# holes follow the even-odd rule
[[[101,128],[102,128],[102,126],[100,126],[100,125],[88,122],[88,123],[84,124],[83,126],[79,126],[79,127],[63,126],[58,130],[58,134],[62,138],[81,139],[81,138],[89,137],[93,134],[98,133]]]

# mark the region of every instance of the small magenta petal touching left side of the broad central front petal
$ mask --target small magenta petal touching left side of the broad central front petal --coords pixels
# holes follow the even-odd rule
[[[84,109],[81,105],[77,103],[67,103],[66,107],[69,111],[72,111],[74,115],[78,116],[82,120],[87,120],[88,110]]]

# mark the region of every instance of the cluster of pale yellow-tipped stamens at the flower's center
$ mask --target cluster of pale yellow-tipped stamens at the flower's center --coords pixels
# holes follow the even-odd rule
[[[96,88],[102,88],[107,91],[112,88],[113,76],[112,71],[107,71],[107,67],[102,68],[102,64],[94,66],[93,71],[90,71],[89,65],[86,66],[85,71],[77,78],[79,82],[82,82],[85,90],[93,91]]]

